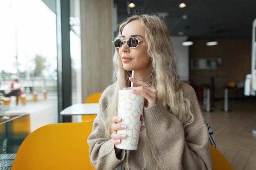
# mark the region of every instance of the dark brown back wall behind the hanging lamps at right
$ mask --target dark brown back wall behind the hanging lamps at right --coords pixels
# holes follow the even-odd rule
[[[245,82],[247,74],[251,73],[252,40],[251,39],[220,39],[216,46],[206,46],[206,39],[193,39],[189,47],[189,57],[221,58],[217,69],[191,69],[189,78],[191,85],[203,84],[214,86],[214,98],[224,97],[224,86],[229,81]],[[240,94],[238,94],[240,93]],[[243,89],[229,93],[230,97],[243,97]]]

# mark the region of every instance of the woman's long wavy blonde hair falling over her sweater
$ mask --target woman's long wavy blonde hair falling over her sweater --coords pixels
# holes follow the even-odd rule
[[[158,100],[165,106],[170,114],[175,115],[185,128],[193,122],[193,114],[189,100],[183,96],[180,88],[180,76],[177,69],[177,58],[173,52],[173,44],[171,42],[168,28],[164,18],[157,14],[135,14],[124,20],[119,28],[117,38],[121,38],[124,26],[129,22],[139,20],[142,28],[145,29],[145,39],[148,46],[147,54],[151,58],[152,67],[150,70],[149,82],[158,91]],[[115,49],[113,56],[114,72],[113,81],[115,82],[114,94],[110,98],[110,103],[107,108],[107,116],[105,121],[106,137],[111,139],[112,117],[117,115],[118,91],[124,87],[128,87],[130,81],[128,76],[131,76],[130,71],[123,68],[121,57],[118,49]],[[149,148],[148,138],[141,137],[144,140],[146,147]],[[126,158],[116,169],[129,170],[129,153],[126,152]],[[142,151],[144,155],[144,167],[150,163],[153,169],[159,169],[155,160],[152,160],[150,149]]]

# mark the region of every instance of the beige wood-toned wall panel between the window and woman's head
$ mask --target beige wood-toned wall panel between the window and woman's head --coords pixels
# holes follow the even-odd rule
[[[82,102],[112,84],[112,0],[81,0]]]

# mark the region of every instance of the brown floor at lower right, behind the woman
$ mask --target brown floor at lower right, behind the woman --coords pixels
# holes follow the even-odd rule
[[[224,100],[214,102],[207,112],[202,104],[205,121],[213,130],[216,148],[227,158],[234,170],[256,170],[256,99],[229,100],[228,112]]]

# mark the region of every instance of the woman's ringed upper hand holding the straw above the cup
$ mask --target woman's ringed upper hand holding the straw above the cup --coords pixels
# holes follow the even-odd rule
[[[155,89],[155,87],[150,86],[150,85],[148,87],[146,87],[148,85],[148,83],[139,81],[132,77],[129,77],[129,80],[131,82],[133,82],[133,84],[137,84],[139,86],[138,87],[137,86],[128,87],[125,89],[132,89],[133,93],[144,97],[145,98],[145,102],[144,102],[145,107],[151,107],[157,102],[157,89]]]

